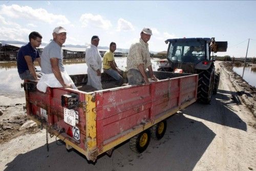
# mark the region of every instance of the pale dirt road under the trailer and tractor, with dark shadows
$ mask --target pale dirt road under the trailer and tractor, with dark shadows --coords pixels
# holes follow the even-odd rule
[[[125,142],[111,157],[102,155],[92,164],[77,152],[68,153],[55,137],[47,152],[45,130],[36,133],[31,126],[30,134],[1,143],[0,170],[256,170],[255,118],[232,86],[230,73],[219,62],[216,67],[221,80],[211,104],[194,103],[168,118],[164,137],[152,139],[142,154]],[[13,109],[5,107],[7,97],[0,98],[2,125],[3,118],[25,115],[24,97],[11,99],[18,104]]]

